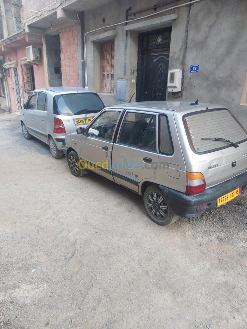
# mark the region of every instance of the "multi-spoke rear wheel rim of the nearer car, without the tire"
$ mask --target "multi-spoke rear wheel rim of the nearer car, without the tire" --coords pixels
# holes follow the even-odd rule
[[[151,192],[148,196],[148,209],[157,219],[163,220],[168,215],[167,204],[162,195],[157,192]]]

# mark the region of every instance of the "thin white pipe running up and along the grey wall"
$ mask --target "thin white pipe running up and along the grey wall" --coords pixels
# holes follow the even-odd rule
[[[87,45],[86,45],[86,37],[87,37],[87,35],[89,33],[93,33],[93,32],[99,31],[99,30],[108,29],[110,27],[122,25],[122,24],[125,24],[125,23],[136,22],[136,21],[141,20],[141,19],[144,19],[144,18],[148,18],[148,17],[154,16],[154,15],[159,15],[161,13],[167,12],[168,10],[172,10],[172,9],[175,9],[175,8],[180,8],[180,7],[183,7],[183,6],[186,6],[186,5],[190,5],[190,4],[193,4],[195,2],[199,2],[199,1],[203,1],[203,0],[193,0],[193,1],[190,1],[190,2],[183,3],[181,5],[178,5],[178,6],[172,6],[170,8],[167,8],[167,9],[164,9],[164,10],[161,10],[159,12],[155,12],[155,13],[152,13],[152,14],[149,14],[149,15],[146,15],[146,16],[143,16],[143,17],[132,19],[131,21],[125,20],[124,22],[120,22],[120,23],[116,23],[116,24],[112,24],[112,25],[100,27],[98,29],[95,29],[95,30],[86,32],[84,34],[84,60],[85,60],[85,84],[86,84],[86,88],[88,88],[88,81],[87,81],[88,78],[87,78]]]

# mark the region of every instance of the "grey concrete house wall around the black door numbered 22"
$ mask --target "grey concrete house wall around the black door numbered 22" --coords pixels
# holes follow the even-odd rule
[[[157,1],[159,5],[164,1]],[[175,5],[184,3],[180,1]],[[153,3],[154,4],[154,3]],[[172,4],[174,5],[174,4]],[[171,5],[171,6],[172,6]],[[116,0],[107,6],[85,13],[85,32],[119,23],[125,20],[126,9],[131,12],[150,8],[150,1]],[[168,6],[164,8],[168,8]],[[161,8],[163,9],[163,8]],[[160,9],[159,9],[160,10]],[[153,30],[172,26],[170,47],[170,69],[182,69],[186,24],[189,6],[174,9],[160,16],[175,14],[172,22],[162,22]],[[211,102],[228,106],[247,126],[247,107],[240,105],[246,76],[246,0],[202,0],[191,6],[188,23],[188,42],[184,64],[184,83],[182,97],[169,100]],[[136,17],[153,13],[145,11]],[[156,16],[158,17],[158,16]],[[104,18],[104,23],[102,19]],[[151,19],[151,18],[150,18]],[[149,20],[142,21],[149,24]],[[140,21],[141,22],[141,21]],[[128,24],[129,26],[131,25]],[[143,31],[145,27],[143,27]],[[149,29],[150,30],[150,29]],[[114,32],[113,32],[114,31]],[[99,90],[99,44],[105,39],[115,39],[115,82],[118,78],[128,80],[126,99],[136,90],[136,75],[130,75],[130,69],[137,69],[138,34],[130,30],[126,33],[126,54],[124,51],[124,25],[96,31],[87,36],[87,72],[88,86]],[[199,64],[198,73],[190,73],[190,65]],[[125,67],[125,74],[124,74]],[[115,95],[101,94],[106,105],[113,104]],[[135,100],[134,97],[132,100]]]

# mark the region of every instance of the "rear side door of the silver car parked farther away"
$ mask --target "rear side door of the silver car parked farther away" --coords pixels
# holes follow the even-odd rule
[[[47,94],[39,91],[37,109],[34,114],[37,136],[47,141]]]

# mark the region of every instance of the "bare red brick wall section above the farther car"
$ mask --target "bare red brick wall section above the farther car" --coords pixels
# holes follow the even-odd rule
[[[61,70],[63,86],[78,87],[78,40],[77,25],[60,31]]]

